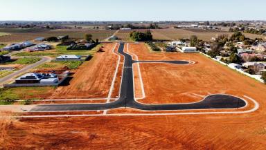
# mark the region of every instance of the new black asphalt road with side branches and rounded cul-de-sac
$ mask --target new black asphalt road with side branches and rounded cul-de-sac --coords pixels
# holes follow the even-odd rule
[[[134,108],[147,111],[163,110],[191,110],[191,109],[233,109],[241,108],[246,105],[244,100],[231,95],[209,95],[204,100],[188,104],[140,104],[134,100],[134,84],[132,74],[132,64],[141,62],[163,62],[171,64],[188,64],[186,61],[133,61],[132,57],[124,53],[124,44],[118,48],[118,53],[125,56],[123,70],[123,79],[121,84],[121,95],[119,100],[107,104],[55,104],[55,105],[37,105],[31,109],[31,112],[44,111],[91,111],[108,110],[116,108]]]

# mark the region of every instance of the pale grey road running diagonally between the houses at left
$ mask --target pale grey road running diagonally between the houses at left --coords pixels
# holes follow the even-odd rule
[[[44,62],[48,62],[49,60],[51,60],[50,57],[42,57],[42,59],[39,62],[36,62],[35,64],[30,64],[28,66],[25,66],[24,68],[21,68],[19,71],[16,71],[15,73],[11,73],[10,75],[1,77],[0,86],[3,86],[3,84],[10,82],[10,80],[13,79],[14,77],[17,77],[18,75],[21,75],[22,73],[26,73],[30,69],[35,68],[36,66],[39,66],[43,64]]]

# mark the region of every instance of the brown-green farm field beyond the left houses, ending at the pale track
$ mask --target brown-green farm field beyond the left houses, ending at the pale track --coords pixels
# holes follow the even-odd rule
[[[10,32],[12,35],[0,37],[1,43],[13,43],[19,41],[31,41],[37,37],[52,37],[69,35],[72,38],[84,38],[85,34],[91,34],[93,39],[106,39],[116,32],[116,30],[90,30],[90,29],[58,29],[58,30],[46,30],[46,29],[35,29],[35,30],[19,30],[19,29],[0,29],[5,32]]]

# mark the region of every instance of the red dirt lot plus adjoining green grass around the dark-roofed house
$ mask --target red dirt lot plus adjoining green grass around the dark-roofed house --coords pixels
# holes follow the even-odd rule
[[[58,88],[3,88],[0,92],[0,100],[6,100],[7,97],[14,97],[14,100],[107,97],[117,61],[117,56],[112,53],[114,45],[103,44],[105,52],[96,53],[90,61],[72,70],[73,79],[70,77],[71,80],[67,85]],[[42,66],[44,68],[41,68]],[[51,62],[42,64],[35,70],[60,69],[64,66],[76,68],[77,65],[70,62]]]

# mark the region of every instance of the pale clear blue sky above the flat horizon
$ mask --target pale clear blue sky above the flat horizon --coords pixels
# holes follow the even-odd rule
[[[0,0],[0,20],[266,20],[265,6],[265,0]]]

